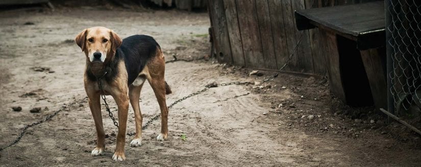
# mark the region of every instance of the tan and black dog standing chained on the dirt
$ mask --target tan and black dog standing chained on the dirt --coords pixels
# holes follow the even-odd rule
[[[91,154],[103,155],[105,149],[98,78],[102,80],[104,94],[111,95],[118,106],[119,127],[113,160],[126,159],[124,147],[129,100],[136,120],[136,134],[130,145],[132,147],[142,145],[142,114],[139,97],[146,79],[154,90],[161,109],[161,133],[157,140],[166,140],[168,108],[165,95],[170,94],[171,90],[164,80],[164,55],[154,38],[134,35],[121,40],[112,30],[97,26],[83,30],[76,36],[75,41],[86,54],[85,91],[89,98],[89,107],[97,134],[97,144]]]

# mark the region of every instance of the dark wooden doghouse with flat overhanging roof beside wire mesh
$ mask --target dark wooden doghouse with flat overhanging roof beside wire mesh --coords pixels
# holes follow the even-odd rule
[[[384,2],[295,11],[297,29],[318,27],[331,93],[351,106],[387,106]]]

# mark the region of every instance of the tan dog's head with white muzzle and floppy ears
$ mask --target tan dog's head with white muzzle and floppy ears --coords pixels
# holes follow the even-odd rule
[[[91,63],[104,63],[107,58],[111,59],[122,42],[116,33],[102,26],[83,30],[75,41]]]

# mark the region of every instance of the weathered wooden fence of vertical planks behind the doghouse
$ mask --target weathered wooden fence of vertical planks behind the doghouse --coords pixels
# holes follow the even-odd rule
[[[304,33],[285,70],[323,75],[319,32],[298,31],[294,11],[370,1],[375,0],[208,0],[214,54],[219,62],[279,69]]]

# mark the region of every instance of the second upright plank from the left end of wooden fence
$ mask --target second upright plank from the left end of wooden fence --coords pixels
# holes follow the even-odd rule
[[[225,17],[227,18],[227,28],[231,44],[233,64],[237,66],[245,66],[235,0],[224,0],[224,7]]]

